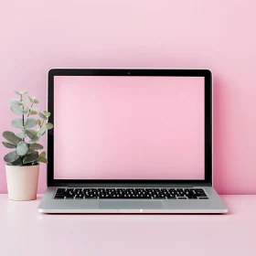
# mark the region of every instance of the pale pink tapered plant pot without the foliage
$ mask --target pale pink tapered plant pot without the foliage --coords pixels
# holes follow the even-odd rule
[[[37,199],[39,165],[5,165],[5,171],[10,200]]]

